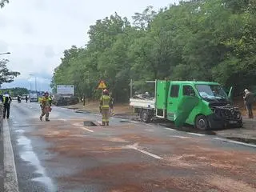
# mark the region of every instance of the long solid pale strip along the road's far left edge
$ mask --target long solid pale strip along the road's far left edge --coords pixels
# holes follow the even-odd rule
[[[10,141],[10,127],[8,122],[3,122],[3,146],[4,146],[4,191],[18,192],[18,178],[14,162],[14,151]]]

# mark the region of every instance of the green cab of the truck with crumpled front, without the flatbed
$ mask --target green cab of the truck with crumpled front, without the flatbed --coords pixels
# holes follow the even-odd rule
[[[166,108],[170,121],[201,130],[242,126],[238,108],[217,82],[170,82]]]

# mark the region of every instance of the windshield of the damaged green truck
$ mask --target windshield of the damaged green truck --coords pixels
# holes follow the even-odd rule
[[[222,89],[222,86],[218,85],[197,85],[198,93],[202,98],[208,99],[226,99],[228,97],[226,92]]]

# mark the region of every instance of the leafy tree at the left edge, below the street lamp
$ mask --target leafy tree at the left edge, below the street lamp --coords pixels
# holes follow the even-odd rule
[[[13,82],[14,78],[18,77],[20,74],[19,72],[8,70],[6,66],[8,62],[7,59],[0,61],[0,86],[4,82]]]

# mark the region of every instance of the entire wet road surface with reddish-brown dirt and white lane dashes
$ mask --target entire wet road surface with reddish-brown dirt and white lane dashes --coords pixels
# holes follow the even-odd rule
[[[256,191],[255,146],[120,118],[84,126],[100,116],[59,107],[50,122],[39,113],[14,101],[4,120],[19,191]]]

